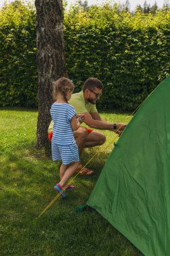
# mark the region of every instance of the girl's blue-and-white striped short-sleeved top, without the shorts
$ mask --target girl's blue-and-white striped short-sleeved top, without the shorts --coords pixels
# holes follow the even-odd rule
[[[52,129],[52,143],[57,145],[71,145],[75,142],[71,119],[75,115],[75,108],[69,103],[54,103],[50,114],[54,126]]]

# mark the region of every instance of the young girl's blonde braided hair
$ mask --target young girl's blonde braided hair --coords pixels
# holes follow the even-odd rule
[[[66,77],[59,78],[58,80],[56,80],[53,83],[53,98],[54,98],[54,100],[57,99],[57,94],[58,94],[58,92],[60,92],[60,94],[62,94],[62,96],[67,101],[67,92],[69,92],[69,90],[73,91],[74,87],[75,86],[74,86],[73,82],[71,82],[70,79],[68,79]]]

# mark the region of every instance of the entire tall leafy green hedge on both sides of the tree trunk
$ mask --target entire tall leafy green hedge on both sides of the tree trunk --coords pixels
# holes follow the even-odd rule
[[[0,104],[36,107],[35,13],[32,7],[17,7],[21,12],[11,6],[0,17]],[[97,77],[105,86],[99,108],[136,108],[170,73],[169,39],[170,11],[131,15],[109,5],[88,12],[70,9],[65,54],[75,92],[85,79]]]

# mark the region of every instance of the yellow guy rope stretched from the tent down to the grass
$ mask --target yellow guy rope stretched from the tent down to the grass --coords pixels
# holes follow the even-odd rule
[[[150,96],[150,95],[151,95],[151,94],[149,94],[148,96]],[[148,98],[148,96],[147,96],[146,98]],[[144,100],[142,101],[142,103],[143,103],[145,100],[146,100],[146,99],[144,99]],[[134,115],[134,113],[138,110],[138,108],[140,108],[140,106],[142,105],[142,103],[133,111],[133,113],[130,115],[130,117],[132,117],[132,115]],[[121,127],[122,127],[122,125],[116,130],[116,133],[118,133],[118,131],[120,130]],[[113,141],[112,141],[111,143],[114,143],[114,141],[116,140],[116,138],[118,137],[118,135],[119,135],[119,134],[117,134],[117,135],[114,137],[114,139],[113,139]],[[107,143],[107,146],[105,146],[104,150],[105,150],[106,148],[108,148],[108,144],[110,144],[110,142]],[[101,149],[102,149],[102,148],[101,148]],[[61,193],[64,192],[64,191],[67,189],[67,186],[69,186],[69,185],[74,181],[74,179],[77,177],[77,175],[79,175],[79,173],[82,172],[82,170],[87,166],[87,164],[89,164],[89,162],[91,162],[91,160],[93,160],[93,158],[94,158],[95,156],[97,156],[97,154],[99,154],[99,152],[101,152],[101,150],[98,150],[97,153],[95,153],[95,154],[89,159],[89,161],[87,161],[87,163],[83,166],[83,168],[81,168],[81,170],[75,175],[75,177],[71,178],[71,180],[70,180],[70,182],[68,183],[68,185],[66,185],[66,186],[64,187],[64,189],[62,189],[62,190],[60,191],[60,193],[58,193],[58,194],[56,195],[56,197],[54,197],[54,199],[52,199],[52,201],[50,201],[50,203],[44,208],[44,210],[41,212],[41,214],[38,216],[38,218],[40,218],[40,217],[50,208],[50,206],[54,203],[54,201],[56,201],[56,199],[58,199],[58,197],[60,197]]]

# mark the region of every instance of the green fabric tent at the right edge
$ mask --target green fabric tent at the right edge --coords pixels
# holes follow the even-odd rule
[[[87,205],[144,255],[170,255],[170,76],[122,133]]]

